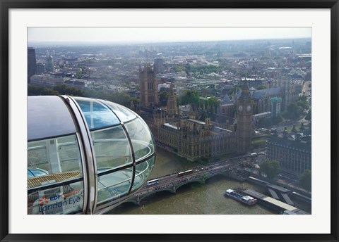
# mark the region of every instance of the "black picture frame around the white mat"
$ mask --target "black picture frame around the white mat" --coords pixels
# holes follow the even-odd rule
[[[8,234],[8,11],[11,8],[328,8],[331,9],[330,234]],[[1,241],[338,241],[338,0],[0,0],[0,240]]]

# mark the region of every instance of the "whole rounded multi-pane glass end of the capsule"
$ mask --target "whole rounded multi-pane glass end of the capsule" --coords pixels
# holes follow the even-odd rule
[[[148,179],[155,148],[141,117],[117,103],[74,98],[90,129],[97,166],[97,205],[121,198]]]

